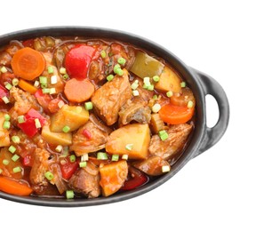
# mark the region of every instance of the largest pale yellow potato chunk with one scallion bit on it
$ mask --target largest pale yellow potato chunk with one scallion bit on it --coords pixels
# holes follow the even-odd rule
[[[149,142],[148,123],[132,123],[110,134],[106,151],[108,154],[127,154],[129,159],[146,159],[148,158]]]

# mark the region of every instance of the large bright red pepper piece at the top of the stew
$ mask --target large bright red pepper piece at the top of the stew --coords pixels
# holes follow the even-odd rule
[[[65,67],[71,78],[84,79],[96,49],[92,46],[77,44],[67,54]]]

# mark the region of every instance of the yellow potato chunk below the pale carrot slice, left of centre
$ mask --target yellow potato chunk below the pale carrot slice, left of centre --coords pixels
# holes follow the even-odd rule
[[[50,130],[53,132],[62,132],[65,126],[69,131],[75,131],[89,120],[89,112],[81,106],[64,105],[51,117]]]

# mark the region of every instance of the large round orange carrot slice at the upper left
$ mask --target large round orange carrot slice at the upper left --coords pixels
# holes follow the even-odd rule
[[[11,65],[15,76],[33,80],[44,71],[45,60],[42,53],[25,47],[13,55]]]

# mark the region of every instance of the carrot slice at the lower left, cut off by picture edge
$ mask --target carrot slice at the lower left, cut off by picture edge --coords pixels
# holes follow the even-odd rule
[[[0,177],[0,191],[12,195],[30,195],[33,190],[22,181]]]

